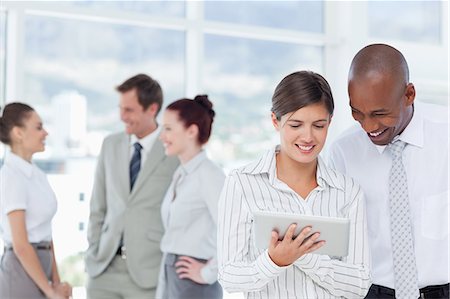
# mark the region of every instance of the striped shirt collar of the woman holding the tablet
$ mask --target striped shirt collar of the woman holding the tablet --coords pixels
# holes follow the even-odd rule
[[[277,145],[271,150],[267,151],[258,161],[249,164],[243,169],[243,173],[248,174],[262,174],[267,173],[269,175],[269,181],[274,184],[276,179],[276,154],[280,151],[280,146]],[[331,170],[323,161],[322,157],[318,157],[317,163],[317,184],[325,188],[328,185],[332,188],[344,190],[344,186],[339,183],[335,173]]]

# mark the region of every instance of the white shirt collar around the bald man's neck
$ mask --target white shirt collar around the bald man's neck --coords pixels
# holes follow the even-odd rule
[[[414,105],[414,114],[408,126],[406,126],[405,130],[403,130],[403,132],[400,135],[395,136],[392,142],[397,140],[404,141],[407,144],[414,145],[417,147],[423,147],[424,118],[420,109],[417,109],[416,105]],[[380,154],[382,154],[387,147],[387,145],[375,145],[375,146]]]

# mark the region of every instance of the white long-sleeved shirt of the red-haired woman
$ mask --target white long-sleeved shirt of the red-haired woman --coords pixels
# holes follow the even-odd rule
[[[217,281],[217,214],[225,175],[201,151],[173,175],[161,207],[164,253],[209,260],[203,279]]]

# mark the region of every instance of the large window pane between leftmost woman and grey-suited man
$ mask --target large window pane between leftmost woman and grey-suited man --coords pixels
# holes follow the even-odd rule
[[[54,239],[65,279],[84,284],[80,252],[96,156],[105,135],[124,130],[115,87],[148,73],[165,91],[166,104],[184,95],[184,32],[27,16],[24,101],[49,131],[36,155],[57,195]],[[70,236],[68,238],[67,236]]]

